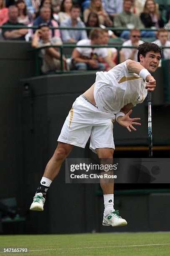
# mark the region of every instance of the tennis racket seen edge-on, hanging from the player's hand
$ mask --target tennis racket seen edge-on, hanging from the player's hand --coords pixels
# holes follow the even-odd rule
[[[149,157],[152,157],[152,112],[151,112],[152,94],[148,92],[148,144],[149,144]]]

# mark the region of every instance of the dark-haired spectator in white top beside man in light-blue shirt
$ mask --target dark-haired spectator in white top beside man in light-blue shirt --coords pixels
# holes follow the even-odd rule
[[[58,13],[60,23],[71,16],[72,0],[62,0],[60,12]]]

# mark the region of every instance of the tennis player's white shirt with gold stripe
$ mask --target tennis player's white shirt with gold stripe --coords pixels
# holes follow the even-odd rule
[[[136,106],[148,94],[146,81],[138,74],[128,71],[126,62],[108,72],[96,72],[94,98],[97,108],[107,113],[118,113],[128,103]]]

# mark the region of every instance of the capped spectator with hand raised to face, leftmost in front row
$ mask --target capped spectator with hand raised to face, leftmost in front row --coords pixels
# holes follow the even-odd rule
[[[32,39],[32,47],[38,48],[40,46],[48,45],[61,45],[62,41],[60,37],[50,38],[50,28],[47,23],[42,23],[34,33]],[[42,58],[41,71],[43,74],[47,72],[54,72],[60,69],[60,52],[58,48],[45,48],[41,49],[39,56]],[[64,67],[66,59],[63,57]]]

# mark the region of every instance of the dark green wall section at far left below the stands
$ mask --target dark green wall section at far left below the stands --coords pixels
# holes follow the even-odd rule
[[[30,43],[0,41],[0,197],[16,196],[23,206],[23,135],[19,81],[34,74]],[[23,207],[22,207],[23,208]]]

